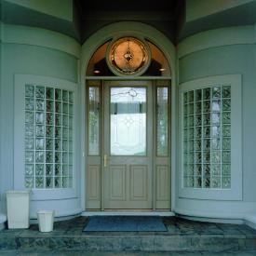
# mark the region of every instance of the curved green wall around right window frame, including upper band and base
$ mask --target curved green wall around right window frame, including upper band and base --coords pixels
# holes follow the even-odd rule
[[[242,200],[182,198],[175,211],[184,215],[246,219],[256,215],[256,36],[255,26],[212,30],[188,37],[178,46],[179,84],[197,78],[242,75]],[[203,192],[202,192],[203,193]]]

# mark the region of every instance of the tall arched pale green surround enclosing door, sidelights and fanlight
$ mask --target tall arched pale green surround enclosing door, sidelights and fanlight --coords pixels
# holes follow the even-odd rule
[[[116,22],[110,25],[107,25],[103,28],[101,28],[99,31],[97,31],[95,34],[92,34],[88,40],[83,44],[82,51],[81,51],[81,61],[78,61],[78,67],[80,67],[80,75],[78,74],[78,83],[80,84],[80,87],[78,88],[78,93],[80,94],[80,105],[81,105],[81,115],[80,115],[80,144],[79,148],[81,150],[81,161],[80,161],[80,192],[81,192],[81,198],[80,198],[80,205],[83,210],[86,210],[86,145],[87,145],[87,128],[86,128],[86,115],[87,107],[86,107],[86,79],[88,78],[94,78],[99,79],[100,77],[87,77],[86,71],[88,67],[88,62],[93,55],[93,53],[97,50],[98,47],[100,47],[103,43],[108,41],[110,38],[113,38],[115,36],[126,36],[126,35],[134,35],[139,37],[144,37],[149,39],[152,43],[155,44],[155,46],[159,47],[164,55],[166,56],[170,69],[171,69],[171,76],[169,77],[155,77],[155,79],[171,79],[171,109],[170,109],[170,115],[171,115],[171,132],[170,132],[170,168],[171,168],[171,209],[175,209],[175,198],[176,198],[176,185],[177,175],[176,170],[178,169],[178,161],[177,161],[177,152],[179,152],[178,147],[178,116],[177,116],[177,110],[178,110],[178,101],[177,101],[177,78],[176,78],[176,48],[171,43],[171,41],[168,39],[168,37],[165,34],[162,34],[158,30],[156,30],[154,27],[141,23],[141,22],[135,22],[135,21],[121,21]],[[137,79],[140,79],[140,77],[136,77]],[[143,79],[154,79],[154,77],[141,77]],[[120,77],[104,77],[106,80],[115,80],[120,79]],[[131,80],[134,78],[130,78]]]

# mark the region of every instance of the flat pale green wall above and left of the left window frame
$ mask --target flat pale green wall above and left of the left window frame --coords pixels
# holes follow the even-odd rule
[[[0,192],[13,188],[14,74],[37,74],[77,81],[77,59],[59,50],[19,44],[2,45],[2,83],[0,101],[1,159],[5,182]]]

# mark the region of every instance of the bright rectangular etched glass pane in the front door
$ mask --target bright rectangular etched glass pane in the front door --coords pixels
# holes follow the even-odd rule
[[[146,88],[111,88],[111,155],[146,155]]]

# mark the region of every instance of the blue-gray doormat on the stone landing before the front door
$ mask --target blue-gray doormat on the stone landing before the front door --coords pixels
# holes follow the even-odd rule
[[[167,231],[159,216],[92,216],[86,232],[150,232]]]

